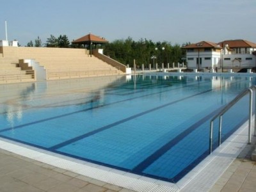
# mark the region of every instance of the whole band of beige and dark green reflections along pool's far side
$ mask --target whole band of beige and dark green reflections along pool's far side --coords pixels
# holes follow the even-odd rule
[[[0,96],[0,114],[8,121],[10,127],[15,122],[20,122],[24,111],[28,109],[52,109],[63,106],[79,106],[81,109],[98,108],[106,103],[106,88],[118,88],[123,84],[129,84],[129,88],[134,92],[142,92],[145,88],[154,88],[161,85],[162,88],[170,87],[173,83],[184,86],[188,83],[211,82],[214,90],[226,92],[226,89],[237,78],[237,90],[252,86],[252,77],[202,77],[202,76],[109,76],[93,77],[86,79],[68,79],[60,81],[42,81],[36,83],[4,84]],[[147,81],[151,86],[143,85]],[[127,85],[128,86],[128,85]],[[132,92],[131,92],[132,93]],[[126,93],[128,95],[129,93]],[[111,99],[111,97],[108,97]],[[221,104],[226,104],[226,100],[221,96]]]

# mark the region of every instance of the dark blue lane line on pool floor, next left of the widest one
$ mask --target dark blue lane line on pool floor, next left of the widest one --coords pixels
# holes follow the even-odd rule
[[[124,119],[122,119],[122,120],[119,120],[119,121],[117,121],[117,122],[114,122],[113,124],[109,124],[109,125],[106,125],[106,126],[104,126],[104,127],[100,127],[99,129],[95,129],[95,130],[93,130],[93,131],[91,131],[91,132],[87,132],[87,133],[85,133],[85,134],[82,134],[82,135],[80,135],[80,136],[77,136],[76,138],[72,138],[72,139],[70,139],[70,140],[64,141],[63,143],[59,143],[59,144],[57,144],[57,145],[54,145],[54,146],[50,147],[49,150],[57,150],[58,148],[64,147],[65,145],[69,145],[70,143],[74,143],[74,142],[76,142],[76,141],[82,140],[82,139],[84,139],[84,138],[86,138],[86,137],[88,137],[88,136],[92,136],[93,134],[96,134],[96,133],[98,133],[98,132],[105,131],[106,129],[109,129],[109,128],[114,127],[114,126],[116,126],[116,125],[123,124],[124,122],[127,122],[127,121],[129,121],[129,120],[132,120],[132,119],[137,118],[137,117],[139,117],[139,116],[145,115],[145,114],[147,114],[147,113],[151,113],[151,112],[153,112],[153,111],[156,111],[156,110],[161,109],[161,108],[165,108],[165,107],[167,107],[167,106],[170,106],[170,105],[175,104],[175,103],[177,103],[177,102],[180,102],[180,101],[182,101],[182,100],[190,99],[190,98],[195,97],[195,96],[197,96],[197,95],[202,95],[202,94],[204,94],[204,93],[208,93],[208,92],[211,92],[211,91],[212,91],[212,89],[206,90],[206,91],[204,91],[204,92],[196,93],[196,94],[194,94],[194,95],[189,95],[188,97],[184,97],[184,98],[182,98],[182,99],[178,99],[178,100],[169,102],[169,103],[167,103],[167,104],[163,104],[163,105],[158,106],[158,107],[156,107],[156,108],[149,109],[149,110],[147,110],[147,111],[143,111],[142,113],[138,113],[138,114],[136,114],[136,115],[129,116],[128,118],[124,118]]]

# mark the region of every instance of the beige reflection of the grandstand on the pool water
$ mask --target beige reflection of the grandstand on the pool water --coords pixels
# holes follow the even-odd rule
[[[14,122],[20,122],[24,111],[28,109],[83,106],[88,103],[91,103],[92,107],[102,106],[104,88],[118,82],[125,82],[125,77],[109,76],[0,85],[0,114],[8,121],[10,127],[13,127]]]

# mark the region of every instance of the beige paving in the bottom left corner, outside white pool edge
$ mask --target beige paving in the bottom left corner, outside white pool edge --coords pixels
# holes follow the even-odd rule
[[[0,149],[0,192],[132,192]]]

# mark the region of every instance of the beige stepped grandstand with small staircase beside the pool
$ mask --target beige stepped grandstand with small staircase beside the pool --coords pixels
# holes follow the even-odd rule
[[[99,56],[95,50],[95,55]],[[86,49],[0,47],[0,83],[125,74],[125,66]],[[105,60],[103,58],[106,58]],[[116,64],[116,65],[113,65]]]

